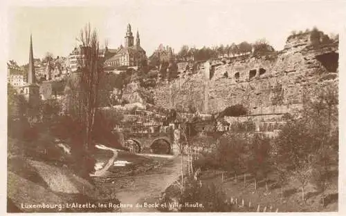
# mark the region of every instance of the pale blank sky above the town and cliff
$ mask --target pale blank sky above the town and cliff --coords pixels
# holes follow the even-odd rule
[[[107,39],[110,48],[124,44],[127,23],[131,23],[148,56],[160,43],[178,52],[183,44],[201,48],[261,38],[282,50],[292,30],[316,26],[327,34],[340,32],[345,28],[341,20],[346,11],[345,1],[138,0],[81,5],[31,3],[8,10],[10,59],[27,63],[30,33],[35,58],[46,52],[67,56],[88,22],[98,29],[100,42]]]

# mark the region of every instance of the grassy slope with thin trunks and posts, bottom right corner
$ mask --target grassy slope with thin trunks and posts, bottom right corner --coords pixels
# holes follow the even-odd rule
[[[302,205],[302,194],[298,182],[289,181],[289,184],[284,186],[284,199],[281,201],[281,188],[275,187],[275,179],[270,175],[268,182],[270,194],[266,195],[266,188],[264,181],[260,181],[255,191],[255,184],[253,179],[247,179],[246,190],[244,190],[244,177],[239,177],[238,182],[235,183],[233,177],[222,182],[221,171],[208,170],[204,171],[201,175],[201,181],[214,182],[221,186],[226,193],[228,199],[233,197],[237,198],[238,204],[244,199],[246,205],[251,202],[251,211],[257,210],[257,205],[260,204],[261,211],[264,206],[267,206],[267,211],[270,206],[273,206],[273,211],[277,208],[279,212],[316,212],[316,211],[337,211],[338,210],[338,173],[334,171],[331,184],[327,188],[326,202],[327,206],[322,208],[320,204],[321,194],[318,193],[313,186],[309,185],[305,189],[306,203]],[[202,183],[203,184],[203,183]]]

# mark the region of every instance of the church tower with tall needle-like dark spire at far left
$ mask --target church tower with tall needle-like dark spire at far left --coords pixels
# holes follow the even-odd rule
[[[29,50],[29,66],[28,66],[28,84],[23,86],[21,91],[24,98],[28,101],[30,108],[37,108],[39,106],[39,85],[36,83],[34,54],[33,54],[33,39],[30,35],[30,50]]]

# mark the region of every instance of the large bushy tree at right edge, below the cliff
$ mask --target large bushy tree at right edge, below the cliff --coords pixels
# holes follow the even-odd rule
[[[337,88],[327,82],[309,89],[303,97],[301,117],[288,119],[275,139],[277,164],[300,182],[302,202],[309,182],[315,181],[325,190],[329,179],[323,173],[329,172],[331,159],[338,157],[333,148],[338,146]]]

